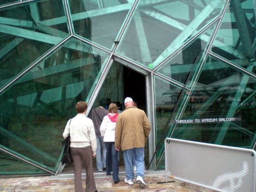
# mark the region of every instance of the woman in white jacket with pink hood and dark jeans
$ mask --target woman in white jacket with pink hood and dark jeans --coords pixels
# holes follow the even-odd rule
[[[110,103],[109,113],[106,115],[100,126],[100,132],[104,137],[105,147],[107,150],[106,154],[106,174],[110,175],[113,171],[113,181],[117,184],[119,180],[119,165],[118,165],[118,153],[119,151],[115,148],[115,129],[118,117],[118,109],[115,103]]]

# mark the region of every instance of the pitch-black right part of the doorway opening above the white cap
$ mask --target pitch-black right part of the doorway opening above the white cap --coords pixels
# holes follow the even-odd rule
[[[124,67],[124,98],[131,97],[138,108],[146,112],[146,84],[145,76]]]

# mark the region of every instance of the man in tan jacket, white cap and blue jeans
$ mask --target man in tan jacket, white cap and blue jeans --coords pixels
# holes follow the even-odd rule
[[[133,106],[132,98],[125,98],[125,110],[117,117],[115,131],[115,147],[124,152],[124,166],[126,178],[124,182],[132,185],[134,172],[132,166],[133,155],[136,166],[136,182],[141,188],[145,188],[143,181],[145,162],[144,147],[150,132],[150,123],[146,113]]]

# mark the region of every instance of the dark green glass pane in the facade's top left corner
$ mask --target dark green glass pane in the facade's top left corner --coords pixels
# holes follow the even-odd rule
[[[66,22],[54,22],[65,16],[62,3],[38,1],[0,11],[0,87],[68,35]]]

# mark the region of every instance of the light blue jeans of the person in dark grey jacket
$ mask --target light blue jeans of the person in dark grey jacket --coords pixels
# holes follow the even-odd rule
[[[96,149],[96,164],[97,169],[103,169],[106,166],[106,147],[102,136],[96,136],[97,139],[97,149]]]

